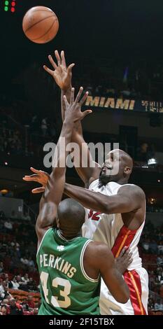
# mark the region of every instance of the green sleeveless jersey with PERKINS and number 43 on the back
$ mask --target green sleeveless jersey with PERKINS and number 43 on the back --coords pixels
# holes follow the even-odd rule
[[[83,267],[83,255],[91,240],[66,240],[50,228],[37,252],[42,304],[40,315],[99,314],[100,278],[91,279]]]

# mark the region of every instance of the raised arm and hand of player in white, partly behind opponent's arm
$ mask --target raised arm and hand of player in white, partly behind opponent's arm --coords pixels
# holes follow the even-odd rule
[[[66,98],[69,100],[71,93],[71,79],[72,79],[72,68],[74,64],[66,67],[66,60],[64,57],[64,51],[59,53],[55,50],[55,57],[57,59],[57,64],[55,64],[52,57],[49,55],[50,63],[54,69],[51,70],[47,66],[43,66],[45,71],[50,73],[50,75],[55,79],[57,85],[59,85],[61,89],[61,108],[62,108],[62,120],[64,120],[65,115],[65,104],[64,104],[64,94]],[[80,148],[80,166],[76,167],[76,171],[78,175],[85,183],[85,187],[87,188],[92,181],[99,178],[100,167],[99,165],[93,161],[92,155],[90,154],[90,150],[87,147],[87,143],[83,139],[83,130],[80,122],[74,125],[73,133],[71,136],[71,141],[78,144]],[[84,166],[83,166],[84,163]]]

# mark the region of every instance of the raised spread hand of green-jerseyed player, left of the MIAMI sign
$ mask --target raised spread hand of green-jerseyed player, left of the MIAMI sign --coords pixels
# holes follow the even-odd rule
[[[76,121],[78,120],[83,120],[83,118],[85,118],[87,114],[92,113],[92,110],[86,110],[84,112],[81,111],[81,106],[87,99],[88,92],[85,92],[84,96],[80,99],[83,92],[83,87],[80,87],[76,99],[74,100],[74,91],[74,88],[72,88],[70,102],[68,102],[66,96],[64,95],[64,104],[66,108],[65,119],[70,118],[71,120],[73,120],[73,123],[76,123]]]

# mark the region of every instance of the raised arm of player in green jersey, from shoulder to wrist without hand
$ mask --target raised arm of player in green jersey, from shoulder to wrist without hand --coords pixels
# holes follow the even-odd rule
[[[48,183],[45,186],[45,191],[41,197],[39,214],[36,221],[36,233],[38,236],[38,244],[41,241],[45,230],[55,224],[55,216],[57,214],[57,206],[62,200],[64,191],[65,172],[66,172],[66,148],[62,147],[62,139],[65,139],[65,146],[71,141],[71,130],[73,129],[73,122],[65,119],[62,132],[55,148],[55,167],[49,176]],[[59,163],[64,164],[59,167]]]

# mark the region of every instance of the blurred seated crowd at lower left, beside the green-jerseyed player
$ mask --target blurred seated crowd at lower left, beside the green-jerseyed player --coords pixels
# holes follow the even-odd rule
[[[40,297],[35,225],[27,214],[20,220],[6,218],[1,211],[0,232],[0,314],[37,314]],[[34,293],[38,295],[35,301]]]

